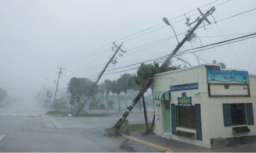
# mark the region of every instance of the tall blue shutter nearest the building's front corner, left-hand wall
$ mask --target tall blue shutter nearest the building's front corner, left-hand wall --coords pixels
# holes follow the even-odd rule
[[[195,134],[202,141],[201,105],[195,104]]]

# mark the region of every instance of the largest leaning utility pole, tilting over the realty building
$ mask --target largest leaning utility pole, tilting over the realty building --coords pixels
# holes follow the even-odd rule
[[[165,65],[167,65],[169,63],[169,61],[172,59],[173,56],[175,56],[175,54],[177,53],[177,51],[182,47],[182,45],[188,40],[190,41],[191,38],[194,37],[194,31],[197,29],[197,27],[202,23],[202,21],[206,20],[208,23],[209,21],[207,20],[207,16],[211,15],[214,12],[215,8],[212,7],[210,10],[207,10],[207,12],[205,14],[202,14],[201,10],[198,9],[198,11],[201,13],[202,17],[195,20],[193,23],[197,22],[197,24],[195,24],[195,26],[193,28],[191,28],[191,30],[189,30],[188,34],[186,34],[186,37],[179,42],[178,41],[178,45],[176,46],[176,48],[173,50],[172,53],[169,54],[168,58],[163,62],[163,64],[161,65],[160,68],[163,68]],[[190,26],[191,24],[189,24],[189,20],[187,19],[187,25]],[[169,22],[169,21],[168,21]],[[209,23],[211,24],[211,23]],[[140,100],[141,96],[147,91],[147,89],[150,87],[150,85],[154,82],[154,79],[150,79],[147,84],[146,84],[146,88],[145,89],[141,89],[140,93],[138,93],[138,95],[135,97],[135,99],[133,100],[133,102],[129,105],[128,109],[126,110],[126,112],[121,116],[121,118],[119,119],[118,122],[116,122],[116,124],[113,126],[114,129],[118,129],[120,130],[121,126],[123,125],[123,122],[125,122],[125,119],[127,118],[127,116],[129,115],[130,111],[133,110],[133,107],[138,103],[138,100]]]

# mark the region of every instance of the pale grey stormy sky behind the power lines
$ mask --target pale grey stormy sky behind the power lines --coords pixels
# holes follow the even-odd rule
[[[101,52],[113,45],[102,48],[103,46],[120,38],[127,37],[131,34],[135,34],[136,32],[146,30],[154,25],[163,23],[163,17],[172,19],[210,2],[214,2],[214,0],[194,0],[193,3],[189,0],[0,0],[0,88],[8,90],[8,93],[13,95],[36,93],[37,91],[42,91],[42,89],[10,89],[34,89],[42,88],[43,85],[53,87],[54,83],[46,80],[45,78],[52,80],[57,79],[58,74],[56,74],[56,72],[58,72],[58,69],[56,67],[60,67],[61,65],[63,65],[66,70],[63,70],[63,75],[61,75],[59,88],[65,88],[67,82],[69,82],[72,77],[88,78],[102,70],[104,64],[109,59],[108,56],[113,54],[111,49]],[[218,5],[222,2],[225,2],[225,0],[219,0],[211,5],[204,6],[201,10],[209,9],[211,6]],[[215,20],[225,19],[226,17],[233,16],[234,14],[254,9],[255,6],[256,1],[254,0],[232,0],[224,3],[223,5],[216,6],[217,11],[214,12],[214,17]],[[197,13],[197,10],[186,14],[186,16],[190,16],[194,13]],[[220,21],[217,25],[223,35],[255,32],[256,22],[253,20],[255,13],[256,10],[241,14],[240,16]],[[190,17],[191,21],[195,20],[197,16],[199,16],[199,14]],[[184,16],[171,20],[170,23],[183,18]],[[208,17],[208,19],[210,21],[214,21],[212,17]],[[172,24],[176,34],[189,30],[189,27],[184,23],[185,19]],[[158,25],[150,30],[141,32],[140,34],[122,39],[117,43],[122,43],[123,41],[127,41],[141,34],[156,30],[157,28],[161,28],[165,25],[166,24]],[[207,36],[205,31],[207,31],[208,36],[220,36],[221,33],[219,32],[217,25],[208,25],[205,27],[206,30],[204,30],[204,28],[199,28],[196,33],[200,37]],[[123,43],[122,49],[128,50],[135,48],[150,42],[158,41],[159,39],[170,37],[173,34],[172,28],[163,27],[151,32],[150,34],[146,34]],[[234,35],[226,37],[226,39],[241,36],[243,35]],[[180,35],[178,39],[181,41],[183,37],[184,34]],[[210,39],[212,43],[225,40],[223,37],[214,37]],[[201,38],[201,41],[204,45],[210,44],[208,38]],[[209,62],[209,60],[212,61],[212,59],[216,59],[218,62],[226,63],[228,67],[247,70],[256,52],[253,47],[253,42],[255,42],[255,38],[231,44],[244,68],[241,66],[229,45],[216,48],[216,52],[222,60],[215,53],[214,49],[205,50],[204,54],[200,57],[201,59],[204,59],[205,57],[207,62]],[[123,54],[124,56],[122,58],[117,56],[118,63],[115,67],[113,67],[112,64],[110,67],[118,68],[165,56],[172,52],[176,45],[177,41],[174,38],[163,43],[159,43],[159,45],[152,46],[151,48],[141,50],[137,53],[134,52],[147,48],[150,45],[129,50]],[[197,47],[199,45],[200,44],[196,41],[193,44],[193,47]],[[190,42],[186,42],[184,47],[190,49]],[[102,49],[91,53],[99,48]],[[185,49],[183,48],[181,50]],[[88,55],[85,56],[86,54]],[[106,58],[102,59],[104,57]],[[183,55],[182,58],[191,65],[198,64],[193,54]],[[205,61],[202,60],[200,60],[200,62],[201,64],[205,63]],[[177,65],[183,63],[182,61],[173,59],[173,64]],[[256,58],[252,61],[250,68],[248,69],[250,73],[256,71],[255,65]],[[118,72],[138,66],[139,65],[134,65],[132,67],[108,72]],[[127,72],[136,72],[136,70]],[[100,82],[105,79],[116,79],[123,73],[105,75],[101,78]]]

